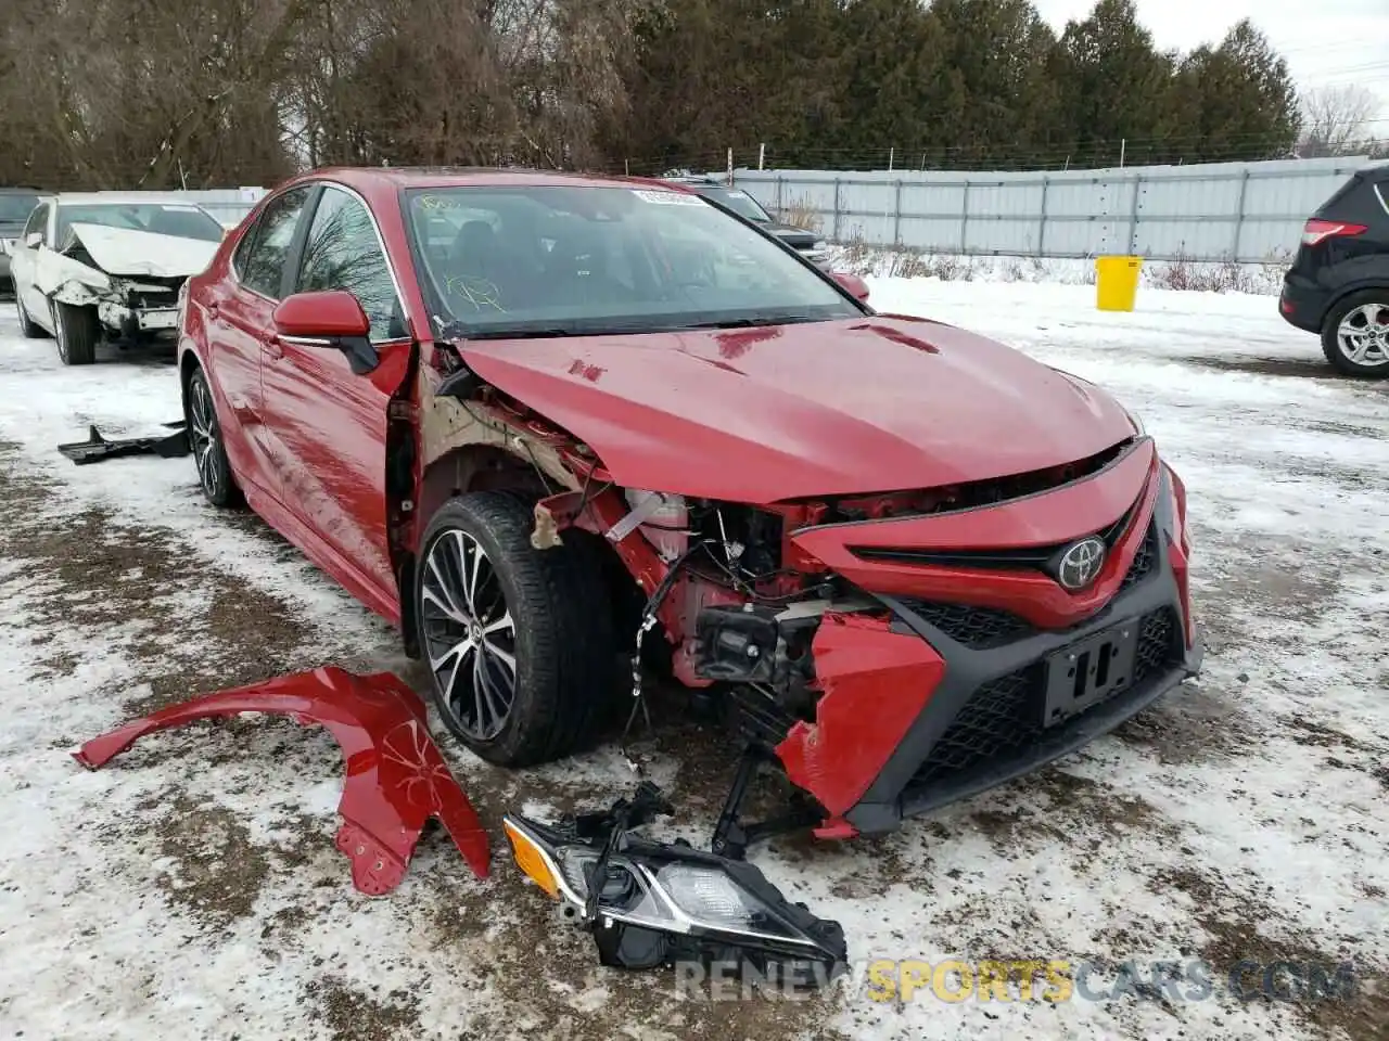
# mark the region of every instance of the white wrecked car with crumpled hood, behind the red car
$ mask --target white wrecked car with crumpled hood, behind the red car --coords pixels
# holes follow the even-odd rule
[[[101,341],[174,336],[179,290],[224,235],[217,218],[176,196],[53,196],[10,244],[19,328],[51,335],[67,365],[90,365]]]

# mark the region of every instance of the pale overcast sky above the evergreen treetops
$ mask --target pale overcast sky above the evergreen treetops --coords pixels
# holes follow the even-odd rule
[[[1032,0],[1060,32],[1095,0]],[[1379,97],[1376,135],[1389,133],[1389,0],[1138,0],[1139,21],[1160,49],[1217,43],[1251,18],[1288,58],[1300,89],[1357,83]]]

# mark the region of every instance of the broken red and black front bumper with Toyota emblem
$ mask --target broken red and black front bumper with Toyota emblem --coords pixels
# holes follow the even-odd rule
[[[814,634],[814,719],[776,745],[790,780],[840,833],[882,831],[1075,751],[1193,676],[1185,512],[1139,439],[1038,494],[793,533],[874,607]]]

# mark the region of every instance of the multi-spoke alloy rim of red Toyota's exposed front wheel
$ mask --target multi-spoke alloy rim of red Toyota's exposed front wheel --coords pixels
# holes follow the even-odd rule
[[[517,630],[497,570],[467,532],[440,532],[419,593],[425,654],[440,706],[465,736],[490,741],[517,691]]]

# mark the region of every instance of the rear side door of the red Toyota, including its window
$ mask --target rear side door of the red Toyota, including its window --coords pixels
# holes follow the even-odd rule
[[[272,314],[311,192],[300,186],[267,203],[232,254],[231,278],[210,282],[200,300],[207,311],[204,361],[232,468],[275,498],[281,497],[281,465],[265,430],[261,364],[274,350]]]

